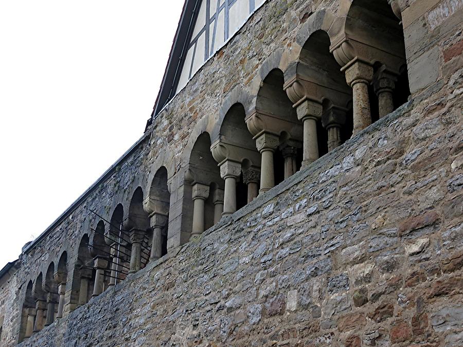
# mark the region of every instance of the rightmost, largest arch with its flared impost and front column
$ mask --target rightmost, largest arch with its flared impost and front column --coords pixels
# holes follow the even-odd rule
[[[391,3],[391,4],[390,4]],[[359,96],[368,100],[363,124],[354,133],[407,101],[410,95],[403,28],[394,2],[345,1],[330,47],[349,85],[363,80]],[[396,11],[397,12],[397,11]],[[335,32],[334,32],[335,31]],[[362,88],[362,92],[360,92]],[[366,96],[368,92],[368,96]],[[354,109],[360,100],[354,98]],[[360,112],[360,111],[359,111]],[[354,111],[354,118],[357,112]]]

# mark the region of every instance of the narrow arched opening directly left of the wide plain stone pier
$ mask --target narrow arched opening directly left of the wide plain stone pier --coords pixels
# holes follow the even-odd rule
[[[155,260],[167,254],[167,235],[169,227],[170,192],[167,186],[167,169],[159,168],[151,182],[145,210],[150,213],[152,229],[150,259]]]

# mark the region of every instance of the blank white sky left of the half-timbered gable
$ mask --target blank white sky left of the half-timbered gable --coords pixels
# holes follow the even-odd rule
[[[0,1],[0,269],[143,134],[183,3]]]

